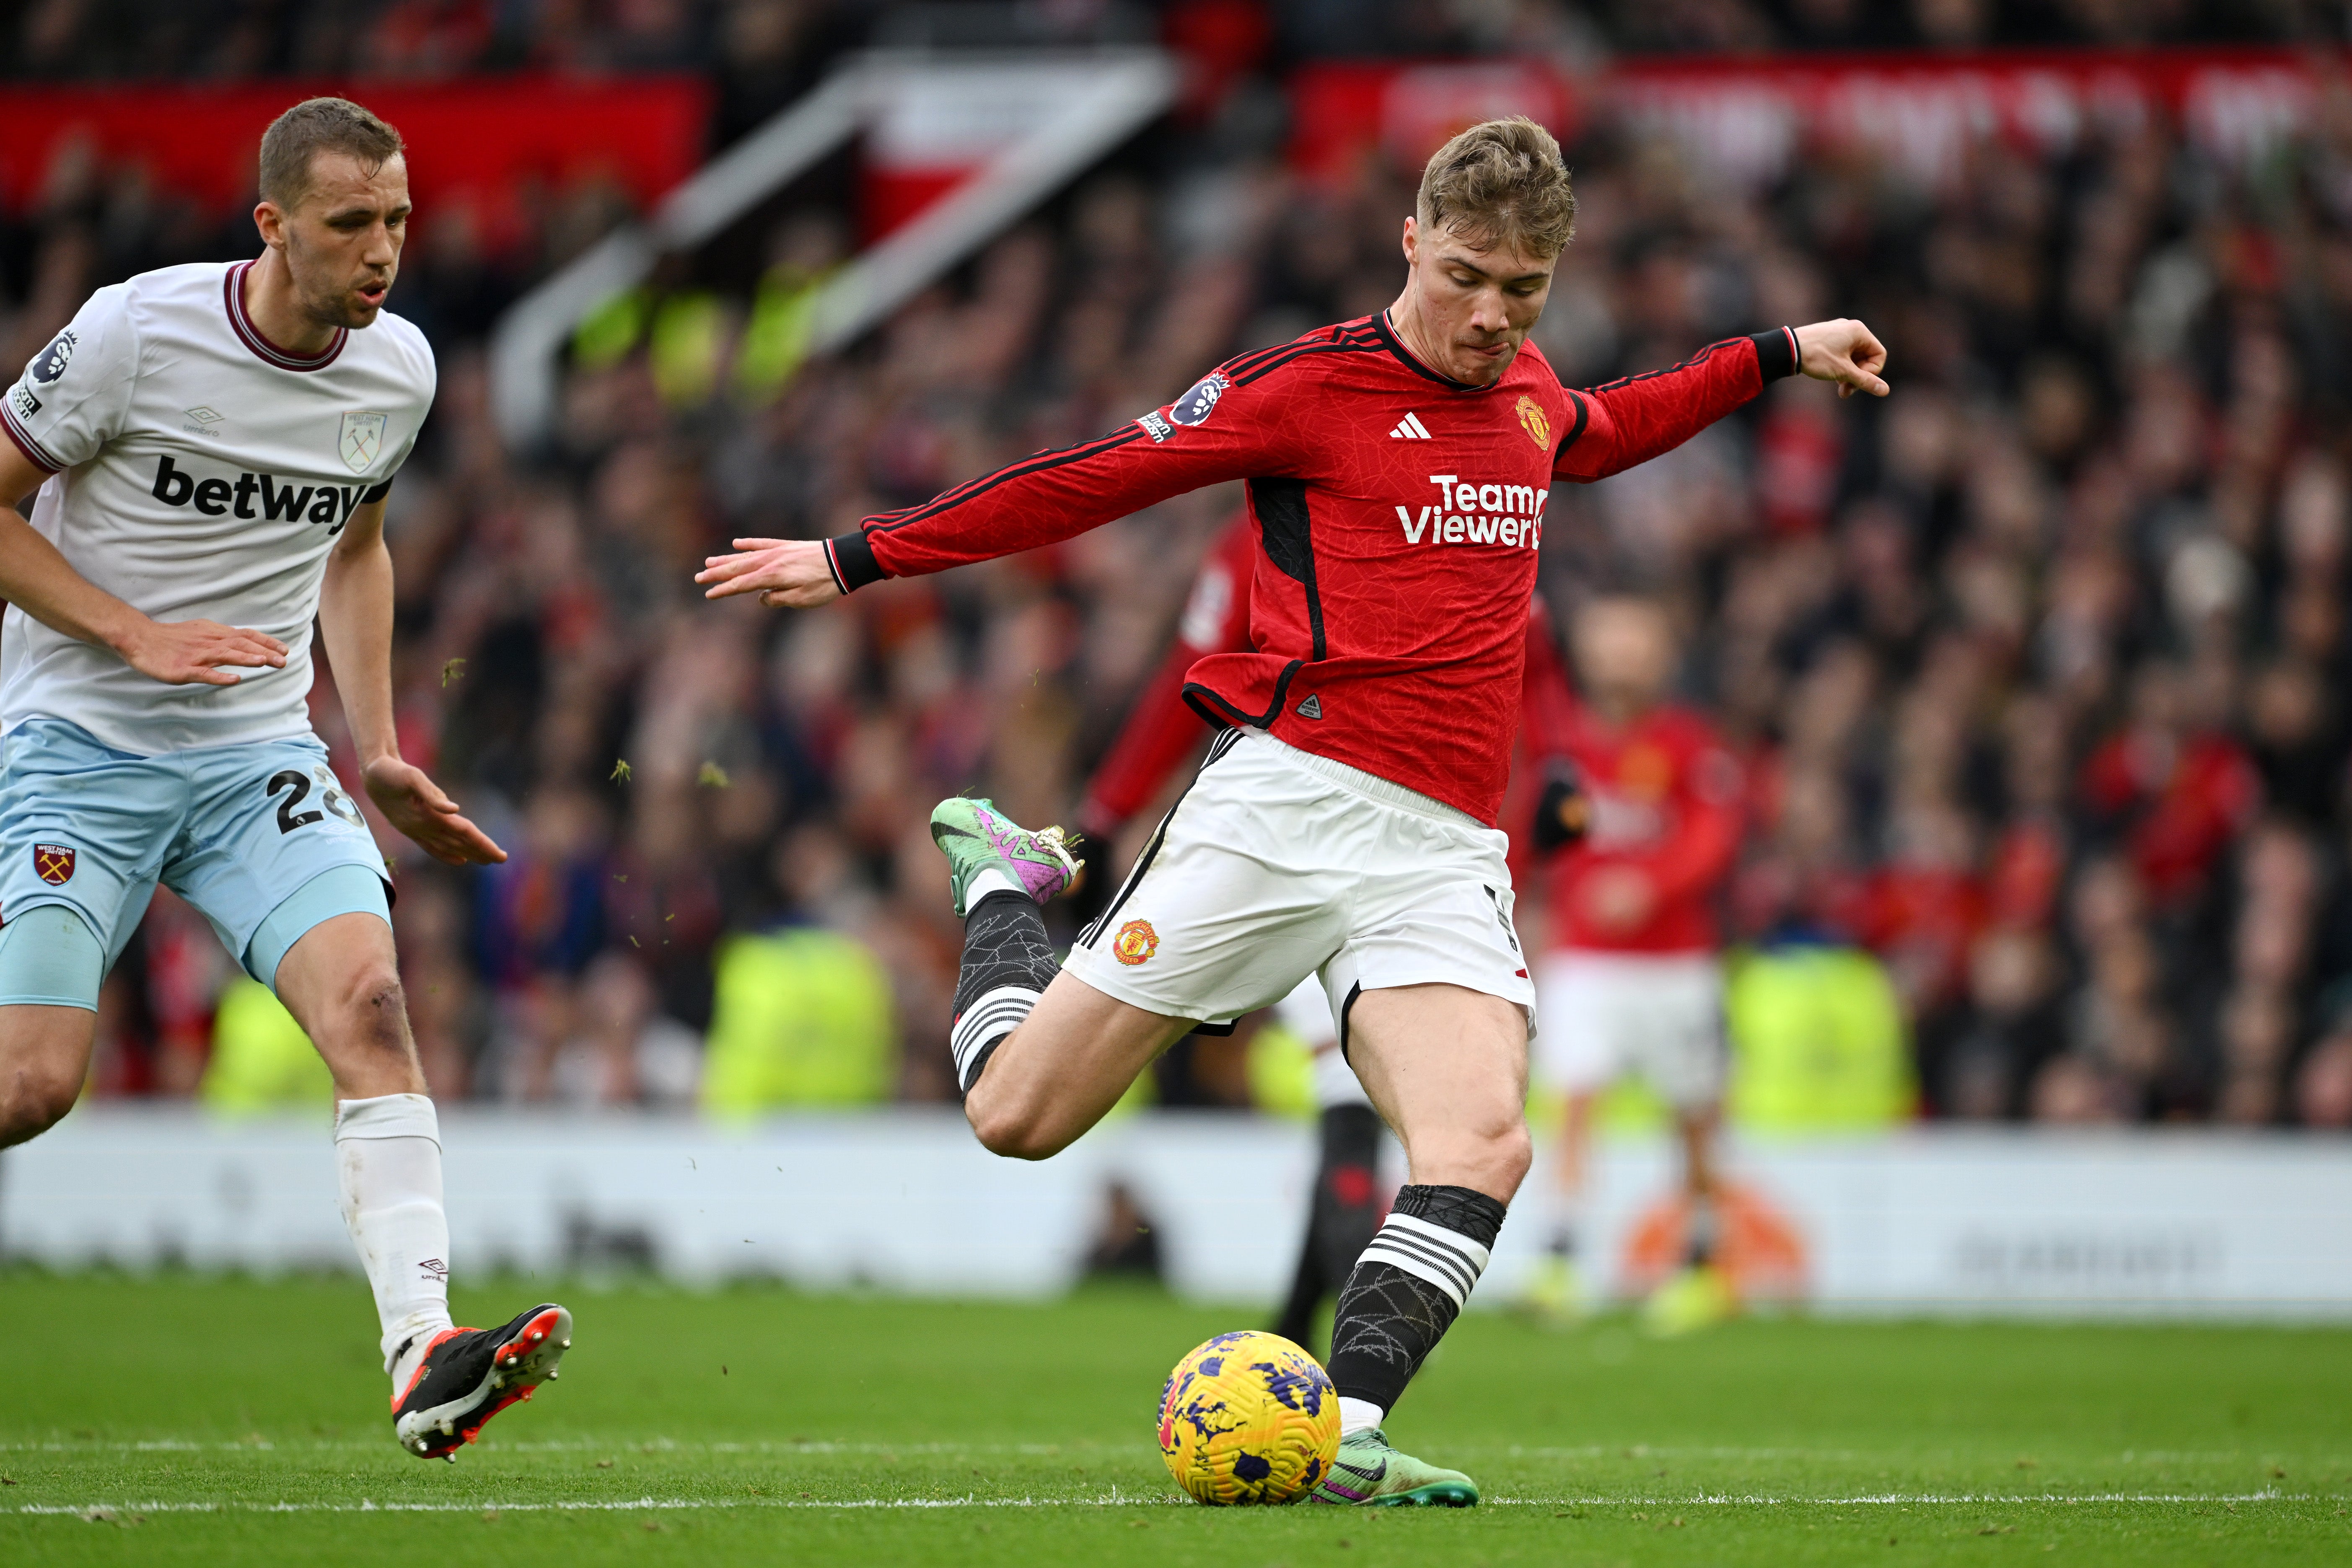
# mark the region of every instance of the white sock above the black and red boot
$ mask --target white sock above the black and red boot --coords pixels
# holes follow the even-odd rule
[[[426,1095],[336,1100],[334,1164],[343,1225],[376,1293],[393,1394],[449,1328],[449,1215],[442,1213],[440,1117]],[[407,1354],[400,1354],[407,1347]],[[395,1366],[397,1361],[397,1366]]]

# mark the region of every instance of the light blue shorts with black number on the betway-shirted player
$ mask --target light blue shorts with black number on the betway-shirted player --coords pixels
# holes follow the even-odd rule
[[[139,757],[78,724],[26,719],[0,741],[0,1006],[96,1009],[158,882],[263,985],[325,919],[390,924],[383,853],[315,736]],[[78,943],[56,914],[28,919],[59,907],[103,945],[103,964],[31,952]]]

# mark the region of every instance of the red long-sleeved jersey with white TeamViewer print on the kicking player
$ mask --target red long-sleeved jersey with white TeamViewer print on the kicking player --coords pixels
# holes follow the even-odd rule
[[[1529,343],[1468,388],[1374,315],[1230,360],[1131,425],[868,517],[828,550],[849,590],[1247,480],[1254,646],[1192,665],[1185,698],[1494,823],[1552,480],[1658,456],[1792,369],[1783,329],[1571,393]]]

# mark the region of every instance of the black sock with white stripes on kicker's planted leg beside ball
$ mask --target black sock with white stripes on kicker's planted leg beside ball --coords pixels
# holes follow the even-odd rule
[[[1404,1187],[1338,1293],[1331,1385],[1395,1408],[1461,1316],[1503,1229],[1503,1204],[1470,1187]]]

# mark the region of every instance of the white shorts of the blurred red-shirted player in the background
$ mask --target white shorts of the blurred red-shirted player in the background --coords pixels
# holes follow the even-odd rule
[[[1724,971],[1710,952],[1555,950],[1536,961],[1536,994],[1552,1027],[1534,1053],[1536,1081],[1599,1093],[1646,1081],[1675,1110],[1724,1095]]]

